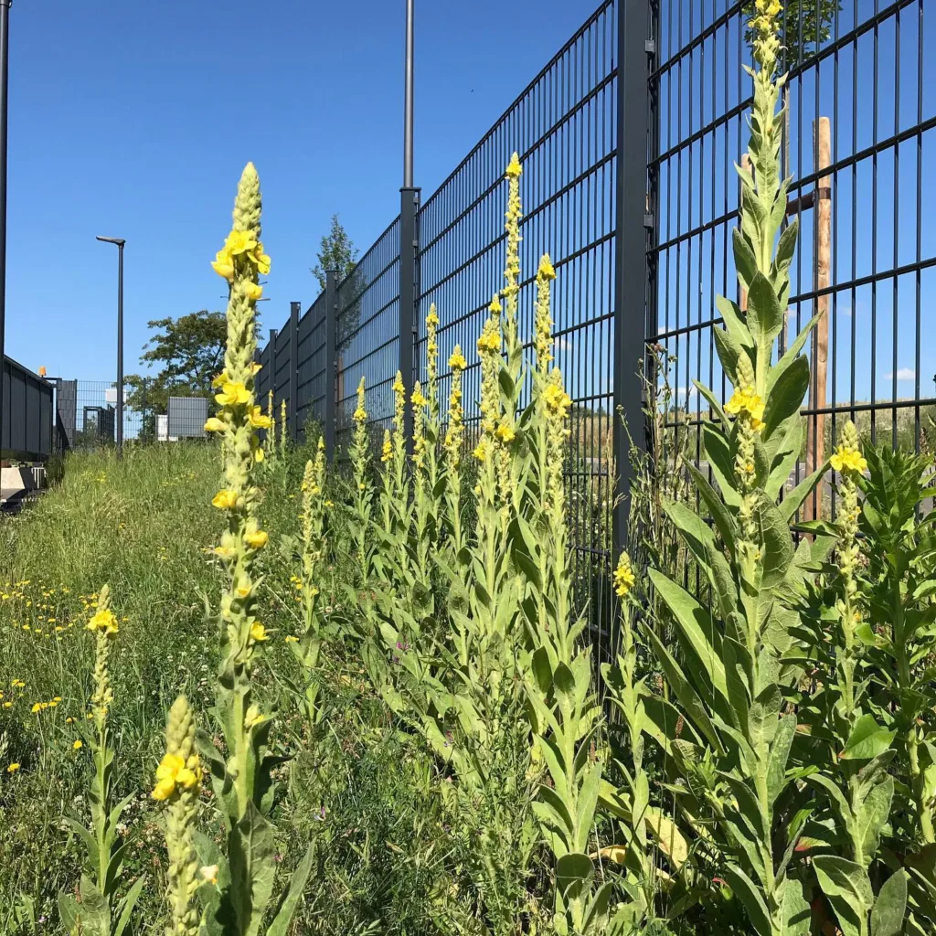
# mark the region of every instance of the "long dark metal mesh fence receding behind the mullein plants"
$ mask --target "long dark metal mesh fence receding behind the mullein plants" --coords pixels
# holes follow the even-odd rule
[[[923,183],[936,149],[936,21],[923,17],[923,2],[787,5],[783,158],[797,180],[789,217],[801,245],[784,341],[826,310],[806,348],[811,431],[800,473],[830,451],[846,413],[873,438],[936,446],[936,398],[924,392],[936,343],[923,328],[924,299],[936,292],[936,186]],[[615,479],[626,482],[629,440],[619,412],[644,443],[639,361],[650,346],[675,358],[664,421],[689,432],[697,460],[693,425],[708,412],[693,381],[726,390],[711,329],[715,296],[739,299],[731,164],[747,146],[752,10],[752,0],[604,0],[446,182],[421,203],[418,190],[404,190],[401,216],[354,270],[330,277],[257,355],[260,393],[273,388],[277,407],[290,401],[291,431],[314,420],[340,453],[361,377],[376,442],[398,369],[407,388],[425,375],[424,322],[435,304],[443,363],[461,344],[471,365],[464,402],[474,425],[475,341],[503,283],[503,175],[517,151],[520,329],[530,335],[532,281],[548,252],[558,274],[555,353],[575,402],[571,545],[580,604],[599,638],[609,631],[609,562],[624,545]]]

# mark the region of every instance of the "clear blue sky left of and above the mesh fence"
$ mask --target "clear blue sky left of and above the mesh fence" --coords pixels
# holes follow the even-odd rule
[[[595,3],[417,0],[416,182],[429,196]],[[146,322],[224,306],[209,261],[241,167],[264,190],[265,325],[303,309],[332,212],[366,249],[399,211],[403,0],[16,3],[10,16],[7,355],[111,379]],[[522,24],[519,26],[519,24]]]

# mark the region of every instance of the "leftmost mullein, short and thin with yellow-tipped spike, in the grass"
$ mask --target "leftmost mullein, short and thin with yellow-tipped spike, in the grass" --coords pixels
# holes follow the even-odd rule
[[[110,609],[110,588],[105,585],[97,596],[97,607],[87,629],[95,635],[95,689],[88,712],[87,748],[91,752],[95,772],[88,789],[91,806],[91,827],[85,828],[77,818],[66,817],[66,823],[85,846],[85,871],[81,873],[78,899],[71,894],[59,895],[59,913],[65,929],[72,934],[121,936],[130,925],[134,907],[143,889],[145,878],[119,894],[121,873],[128,842],[120,836],[123,814],[134,794],[118,803],[112,802],[114,749],[110,739],[110,707],[113,689],[110,684],[110,647],[120,631],[120,625]],[[80,747],[77,749],[80,750]]]

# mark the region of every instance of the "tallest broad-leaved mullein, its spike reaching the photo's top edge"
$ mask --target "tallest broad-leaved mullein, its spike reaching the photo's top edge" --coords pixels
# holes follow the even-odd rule
[[[805,539],[795,551],[790,521],[825,466],[779,495],[802,448],[799,406],[809,382],[800,351],[815,319],[774,362],[790,290],[797,224],[782,229],[789,180],[780,175],[785,76],[777,74],[781,7],[756,0],[753,112],[733,246],[747,314],[717,300],[724,329],[714,339],[733,385],[722,406],[696,383],[713,417],[702,426],[706,458],[718,489],[687,466],[713,527],[685,504],[665,509],[708,578],[711,606],[651,569],[650,578],[675,624],[674,653],[651,626],[643,627],[677,702],[648,709],[647,733],[663,746],[667,780],[680,790],[680,813],[706,850],[718,876],[744,908],[757,936],[807,936],[811,911],[797,845],[809,816],[808,795],[792,782],[797,716],[784,701],[797,686],[783,654],[794,643],[795,611],[784,592],[806,577],[828,548],[827,537]],[[779,237],[778,237],[779,236]]]

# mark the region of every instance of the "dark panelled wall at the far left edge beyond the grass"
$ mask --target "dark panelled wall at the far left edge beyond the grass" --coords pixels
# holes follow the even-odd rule
[[[0,458],[45,461],[52,451],[51,384],[11,358],[0,363]]]

